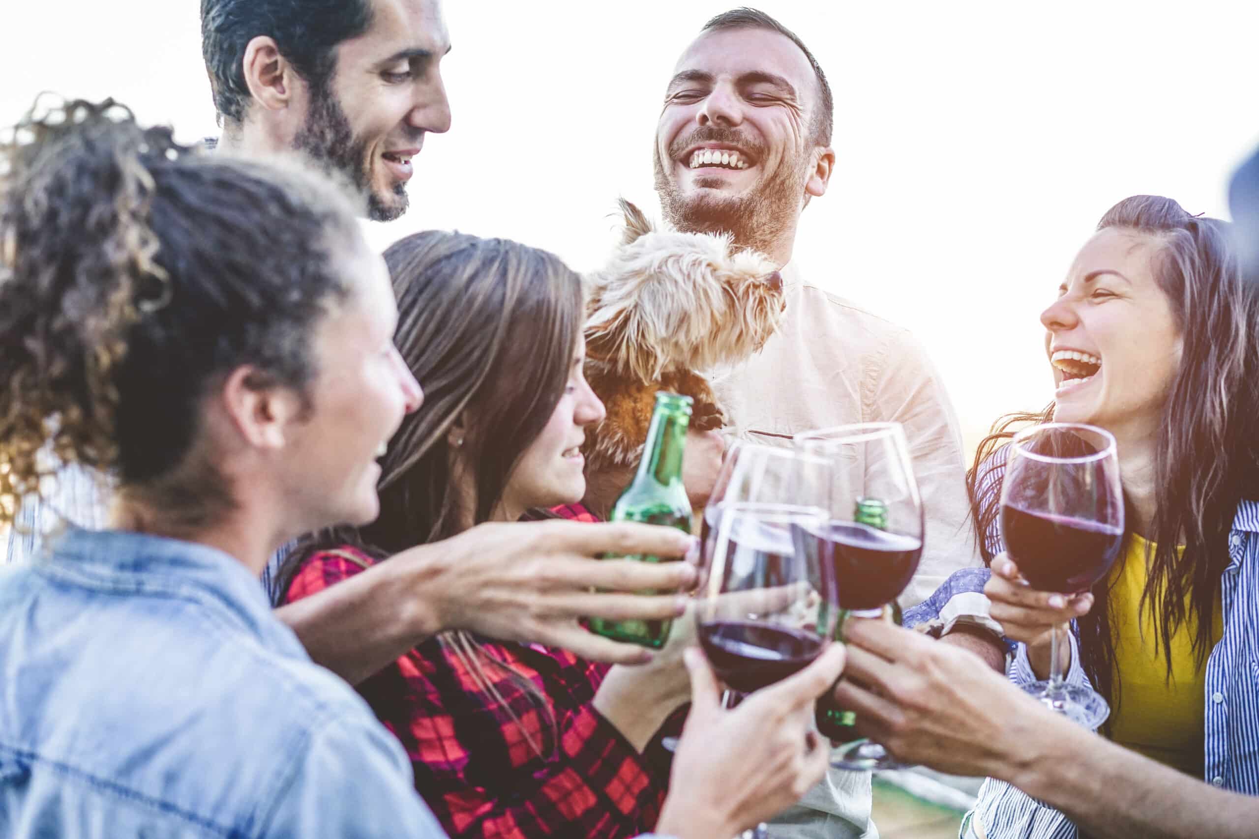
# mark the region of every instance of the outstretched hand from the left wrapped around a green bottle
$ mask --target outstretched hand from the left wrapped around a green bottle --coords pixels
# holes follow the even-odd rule
[[[413,592],[436,611],[439,629],[563,647],[597,662],[642,664],[652,654],[594,635],[579,619],[677,618],[689,600],[682,592],[695,585],[691,562],[597,558],[606,552],[682,558],[696,542],[672,527],[560,521],[481,525],[442,545],[447,560]],[[390,564],[404,562],[407,553]]]

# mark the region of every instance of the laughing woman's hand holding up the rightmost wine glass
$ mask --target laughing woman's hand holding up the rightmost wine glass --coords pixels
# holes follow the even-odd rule
[[[1059,633],[1058,654],[1063,670],[1070,667],[1070,644],[1061,642],[1066,639],[1066,625],[1093,608],[1092,594],[1071,596],[1036,591],[1005,553],[992,560],[992,577],[983,586],[983,594],[992,601],[990,614],[1001,624],[1006,638],[1027,645],[1027,660],[1037,678],[1049,677],[1051,631]]]

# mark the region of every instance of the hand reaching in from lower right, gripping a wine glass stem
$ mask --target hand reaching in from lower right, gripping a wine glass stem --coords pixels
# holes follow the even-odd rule
[[[896,758],[954,775],[1011,777],[1054,714],[971,653],[881,620],[845,625],[835,701]]]

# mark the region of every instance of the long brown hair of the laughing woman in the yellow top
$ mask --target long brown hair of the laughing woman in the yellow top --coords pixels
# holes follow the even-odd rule
[[[1139,606],[1152,610],[1155,643],[1163,650],[1171,678],[1171,636],[1190,616],[1197,621],[1192,649],[1199,665],[1210,652],[1212,609],[1229,562],[1233,518],[1243,498],[1259,498],[1259,345],[1254,338],[1259,289],[1243,279],[1231,225],[1192,216],[1171,199],[1124,199],[1102,216],[1098,230],[1107,228],[1155,239],[1155,278],[1171,302],[1183,341],[1158,425],[1156,508],[1144,533],[1157,547]],[[1053,403],[1040,413],[1008,414],[980,443],[967,488],[985,564],[1001,550],[997,516],[1006,445],[1020,428],[1053,416]],[[1129,537],[1131,530],[1126,546]],[[1183,552],[1177,552],[1180,545]],[[1080,663],[1098,692],[1117,706],[1121,686],[1114,684],[1108,581],[1098,582],[1093,592],[1093,610],[1076,621]]]

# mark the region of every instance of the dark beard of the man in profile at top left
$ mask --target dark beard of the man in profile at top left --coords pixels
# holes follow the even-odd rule
[[[397,204],[385,204],[371,189],[368,171],[368,142],[354,136],[350,119],[327,84],[311,88],[311,107],[297,136],[293,148],[305,152],[317,165],[350,179],[364,196],[366,215],[373,221],[393,221],[407,211],[409,196],[407,185],[397,184],[393,194]]]

